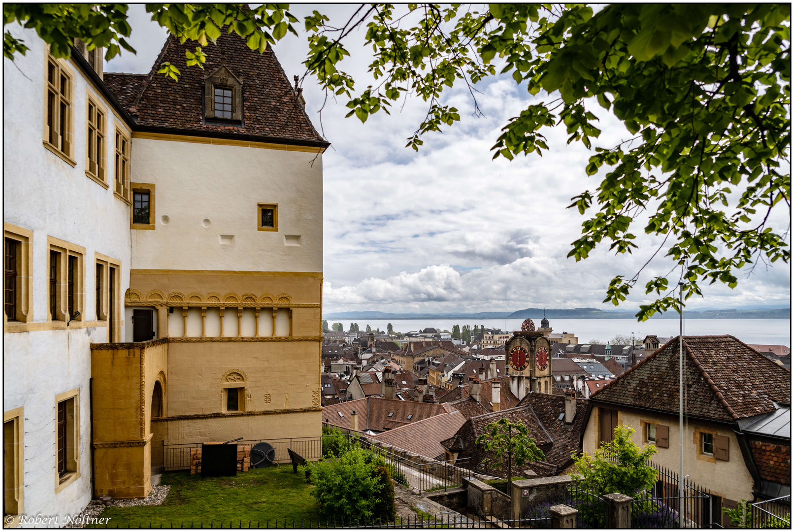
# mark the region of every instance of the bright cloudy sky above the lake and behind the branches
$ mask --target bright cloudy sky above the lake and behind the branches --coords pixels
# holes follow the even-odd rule
[[[106,71],[148,72],[165,39],[143,6],[130,9],[137,56],[125,52],[106,64]],[[341,23],[355,6],[294,6],[291,11],[303,20],[313,9]],[[306,37],[299,33],[300,38],[290,34],[274,46],[290,79],[304,73]],[[342,67],[360,79],[360,87],[371,83],[363,37],[363,31],[348,37],[351,57]],[[310,78],[303,87],[306,111],[321,129],[318,111],[325,94]],[[379,113],[365,124],[344,118],[349,111],[345,99],[326,102],[322,133],[332,143],[323,156],[326,313],[528,306],[611,310],[615,307],[601,301],[612,277],[633,276],[661,243],[643,235],[633,255],[615,256],[605,245],[579,263],[567,259],[584,217],[565,207],[572,196],[597,184],[598,176],[584,173],[592,152],[580,144],[566,145],[565,129],[557,129],[545,132],[551,149],[542,157],[491,160],[490,148],[503,125],[543,94],[532,97],[526,85],[517,86],[507,76],[487,79],[477,89],[484,117],[472,116],[474,105],[465,87],[453,88],[444,102],[457,107],[461,123],[424,137],[418,153],[404,146],[426,113],[421,98],[407,98],[392,108],[391,116]],[[611,146],[630,137],[607,111],[599,106],[592,111],[603,131],[595,145]],[[788,210],[779,209],[771,219],[773,229],[785,230]],[[634,233],[642,234],[642,226]],[[649,301],[642,286],[650,276],[669,272],[671,264],[662,259],[646,268],[626,310]],[[706,287],[704,298],[688,306],[789,306],[788,265],[769,270],[759,265],[754,275],[740,279],[734,290]]]

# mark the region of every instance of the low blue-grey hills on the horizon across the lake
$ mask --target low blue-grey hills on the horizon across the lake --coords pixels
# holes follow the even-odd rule
[[[575,309],[541,309],[527,308],[516,310],[515,312],[477,312],[476,314],[464,313],[391,313],[380,312],[378,310],[353,310],[350,312],[335,312],[326,314],[323,318],[327,320],[348,320],[348,319],[542,319],[543,313],[549,319],[634,319],[637,310],[600,310],[595,308],[575,308]],[[758,310],[738,310],[738,309],[707,309],[707,310],[686,310],[687,319],[791,319],[791,308],[784,309],[758,309]],[[677,319],[677,312],[665,312],[664,314],[654,314],[652,319]]]

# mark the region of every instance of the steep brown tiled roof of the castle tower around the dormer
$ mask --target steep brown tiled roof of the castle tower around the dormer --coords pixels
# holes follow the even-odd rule
[[[187,132],[225,133],[239,137],[267,137],[297,144],[326,146],[306,116],[291,83],[272,48],[264,53],[250,49],[237,33],[223,31],[216,44],[203,47],[206,63],[182,68],[179,82],[157,74],[160,64],[183,65],[186,50],[198,43],[169,36],[146,76],[142,90],[131,106],[136,108],[138,126],[181,129]],[[206,76],[225,66],[242,82],[245,127],[202,124],[202,88]],[[140,76],[106,73],[108,87],[121,102],[141,86]]]

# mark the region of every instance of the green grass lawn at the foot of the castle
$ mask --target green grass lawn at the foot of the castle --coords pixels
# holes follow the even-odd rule
[[[110,507],[100,517],[110,517],[109,528],[127,528],[139,526],[148,528],[198,526],[203,522],[205,528],[214,522],[217,528],[221,521],[229,527],[234,526],[283,526],[284,519],[291,526],[299,527],[301,519],[309,525],[309,520],[317,526],[319,508],[309,492],[311,486],[306,484],[302,474],[294,475],[291,465],[251,469],[249,472],[238,473],[237,476],[222,476],[202,479],[201,475],[188,472],[164,473],[161,484],[171,486],[168,497],[160,506]],[[104,526],[101,526],[104,528]]]

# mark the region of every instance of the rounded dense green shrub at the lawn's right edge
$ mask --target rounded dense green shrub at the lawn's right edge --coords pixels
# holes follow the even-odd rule
[[[327,519],[370,519],[380,504],[380,474],[367,453],[355,446],[347,453],[310,466],[314,488],[311,495],[320,503]],[[392,504],[394,497],[392,496]]]

